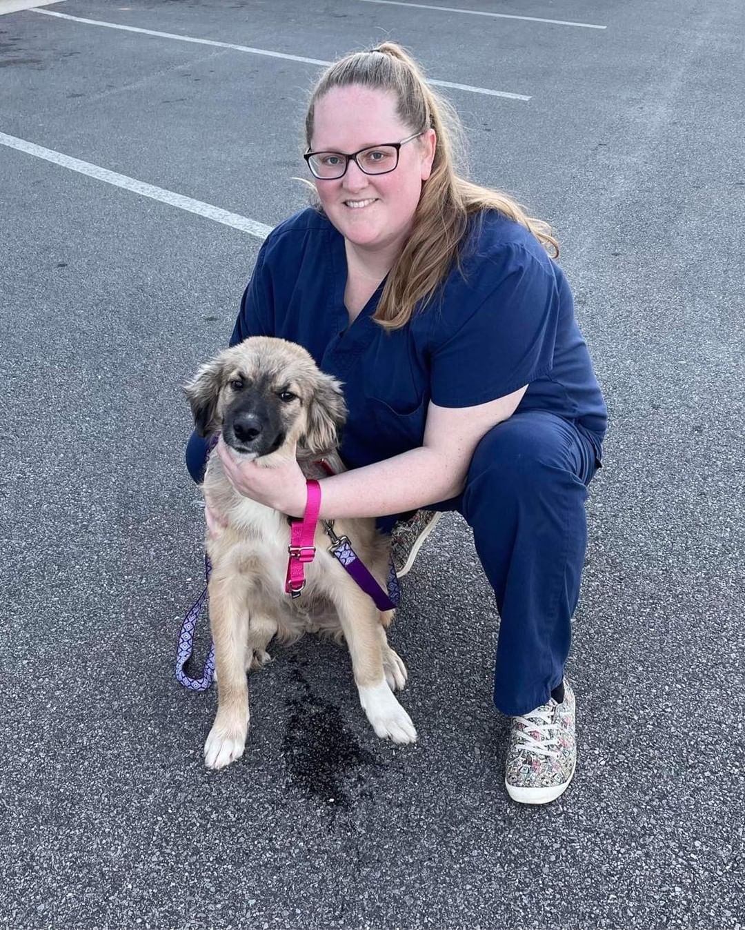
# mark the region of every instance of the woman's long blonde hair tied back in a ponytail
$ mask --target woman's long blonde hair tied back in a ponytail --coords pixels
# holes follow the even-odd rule
[[[554,257],[558,256],[559,246],[548,223],[528,217],[507,194],[459,177],[454,157],[462,138],[458,115],[427,84],[417,62],[394,42],[346,55],[321,75],[305,119],[308,146],[313,138],[316,102],[332,87],[352,85],[392,92],[398,100],[398,115],[406,126],[412,132],[432,128],[437,137],[432,174],[422,185],[412,233],[388,275],[373,317],[380,326],[406,326],[417,303],[421,301],[421,307],[429,303],[453,263],[459,263],[460,246],[473,213],[499,210],[525,226],[551,248]]]

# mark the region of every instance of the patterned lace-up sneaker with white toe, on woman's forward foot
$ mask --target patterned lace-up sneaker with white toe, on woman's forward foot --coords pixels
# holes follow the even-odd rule
[[[564,793],[577,764],[575,699],[564,680],[564,700],[550,698],[523,717],[512,717],[504,783],[512,801],[548,804]]]

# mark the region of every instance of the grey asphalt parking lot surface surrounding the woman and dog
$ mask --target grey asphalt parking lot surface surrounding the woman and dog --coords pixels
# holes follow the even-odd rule
[[[0,2],[0,926],[745,926],[745,12],[438,5]],[[460,85],[472,177],[552,222],[610,411],[579,764],[542,808],[504,791],[499,618],[457,516],[392,631],[415,746],[376,739],[345,652],[309,637],[207,772],[214,689],[173,675],[203,540],[180,385],[260,246],[214,208],[305,206],[303,59],[387,37]]]

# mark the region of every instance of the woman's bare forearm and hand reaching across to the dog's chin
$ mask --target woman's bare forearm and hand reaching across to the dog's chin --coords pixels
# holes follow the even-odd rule
[[[476,445],[492,427],[512,416],[526,388],[472,407],[431,403],[420,448],[321,481],[322,519],[379,517],[456,497],[463,490]],[[287,459],[277,468],[263,468],[253,461],[239,461],[221,440],[218,452],[241,494],[289,516],[302,516],[305,478],[297,461]]]

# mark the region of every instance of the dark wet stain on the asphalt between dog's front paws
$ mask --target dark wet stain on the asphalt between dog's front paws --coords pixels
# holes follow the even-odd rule
[[[347,790],[350,776],[359,781],[365,769],[384,764],[344,729],[338,707],[313,695],[298,659],[290,661],[296,666],[292,678],[299,693],[287,701],[289,719],[282,743],[286,772],[294,785],[329,808],[348,809],[353,803]]]

